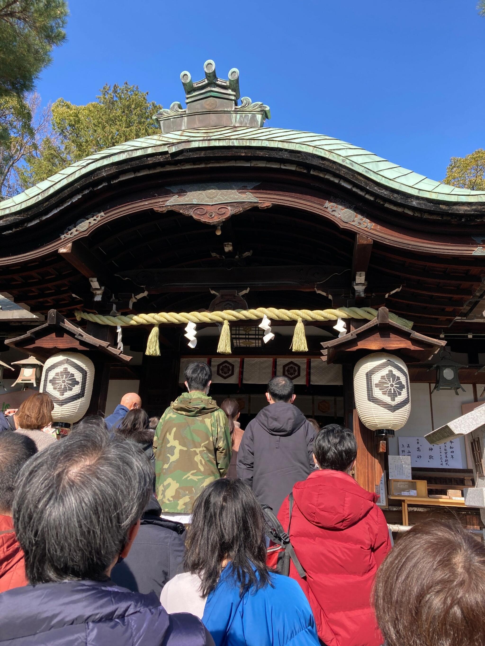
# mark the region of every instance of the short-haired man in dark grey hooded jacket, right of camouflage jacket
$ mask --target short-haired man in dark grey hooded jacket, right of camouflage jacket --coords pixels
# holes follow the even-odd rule
[[[270,405],[249,422],[242,436],[237,477],[277,514],[292,486],[314,468],[315,429],[294,406],[294,386],[288,377],[274,377],[266,399]]]

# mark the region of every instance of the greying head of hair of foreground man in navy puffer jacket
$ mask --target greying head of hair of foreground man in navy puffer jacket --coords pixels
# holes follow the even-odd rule
[[[152,482],[138,444],[94,429],[34,455],[19,474],[13,506],[28,581],[106,579]]]

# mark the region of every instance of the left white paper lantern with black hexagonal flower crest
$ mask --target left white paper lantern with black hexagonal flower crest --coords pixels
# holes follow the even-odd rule
[[[85,355],[59,352],[44,365],[40,391],[54,402],[54,422],[74,424],[85,415],[91,401],[94,364]]]

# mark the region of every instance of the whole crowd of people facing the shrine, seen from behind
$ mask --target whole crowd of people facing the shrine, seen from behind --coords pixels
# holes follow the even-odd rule
[[[48,395],[0,419],[0,644],[485,644],[475,536],[428,521],[391,547],[353,433],[306,419],[290,379],[245,430],[210,366],[185,379],[160,419],[136,393],[60,439]]]

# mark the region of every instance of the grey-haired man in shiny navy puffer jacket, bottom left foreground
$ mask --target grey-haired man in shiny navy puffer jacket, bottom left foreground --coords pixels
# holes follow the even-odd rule
[[[153,592],[109,578],[152,486],[142,449],[106,431],[73,433],[28,460],[13,517],[30,585],[0,594],[0,644],[213,646],[199,619],[169,616]]]

